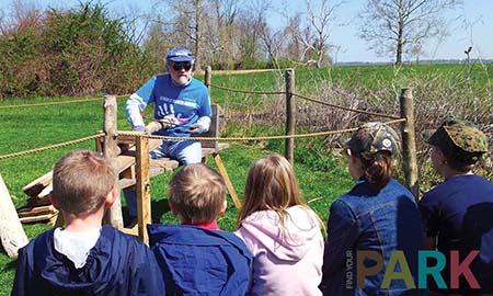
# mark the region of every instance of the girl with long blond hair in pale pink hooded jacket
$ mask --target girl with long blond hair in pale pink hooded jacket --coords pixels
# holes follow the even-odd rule
[[[250,168],[238,221],[236,234],[254,257],[252,295],[322,295],[322,223],[284,157],[260,158]]]

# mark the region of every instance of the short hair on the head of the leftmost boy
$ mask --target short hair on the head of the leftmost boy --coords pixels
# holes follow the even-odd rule
[[[74,150],[61,157],[53,169],[53,195],[61,212],[81,216],[103,206],[115,186],[110,162],[90,150]]]

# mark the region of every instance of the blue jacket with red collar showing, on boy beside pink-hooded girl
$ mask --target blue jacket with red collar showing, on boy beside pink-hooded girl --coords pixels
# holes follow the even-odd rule
[[[233,234],[187,225],[148,225],[167,295],[245,295],[252,253]]]

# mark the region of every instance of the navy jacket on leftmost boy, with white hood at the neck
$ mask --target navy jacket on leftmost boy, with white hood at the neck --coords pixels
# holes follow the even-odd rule
[[[137,239],[103,226],[78,270],[55,250],[54,231],[20,250],[12,295],[164,295],[154,255]]]

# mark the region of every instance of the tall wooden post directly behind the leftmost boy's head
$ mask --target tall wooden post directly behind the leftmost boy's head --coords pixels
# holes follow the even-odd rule
[[[104,95],[104,118],[103,118],[103,132],[104,136],[103,155],[110,159],[112,164],[115,164],[115,159],[119,155],[119,148],[116,141],[116,95]],[[118,175],[116,175],[115,184],[118,182]],[[122,216],[122,201],[119,196],[119,189],[117,190],[116,200],[110,210],[106,212],[105,220],[108,221],[116,229],[123,228]]]

